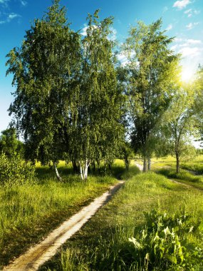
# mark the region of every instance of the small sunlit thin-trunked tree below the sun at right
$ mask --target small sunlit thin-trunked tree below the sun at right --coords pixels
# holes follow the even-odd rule
[[[198,91],[194,84],[187,84],[177,89],[172,103],[165,112],[162,122],[162,134],[172,153],[176,157],[176,171],[179,173],[179,158],[190,148],[190,138],[197,131],[197,118],[194,102]]]

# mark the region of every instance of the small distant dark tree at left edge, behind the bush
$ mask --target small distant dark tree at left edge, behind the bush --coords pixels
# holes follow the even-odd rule
[[[24,143],[18,140],[14,128],[8,128],[1,132],[0,152],[4,153],[8,158],[11,158],[16,154],[23,155]]]

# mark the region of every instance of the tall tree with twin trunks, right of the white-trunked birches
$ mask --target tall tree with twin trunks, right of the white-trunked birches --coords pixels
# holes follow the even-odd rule
[[[172,38],[160,31],[162,21],[146,26],[138,22],[130,29],[123,45],[127,56],[127,95],[132,127],[131,140],[135,152],[144,158],[143,170],[150,169],[155,150],[154,131],[172,98],[177,83],[179,57],[168,48]]]

